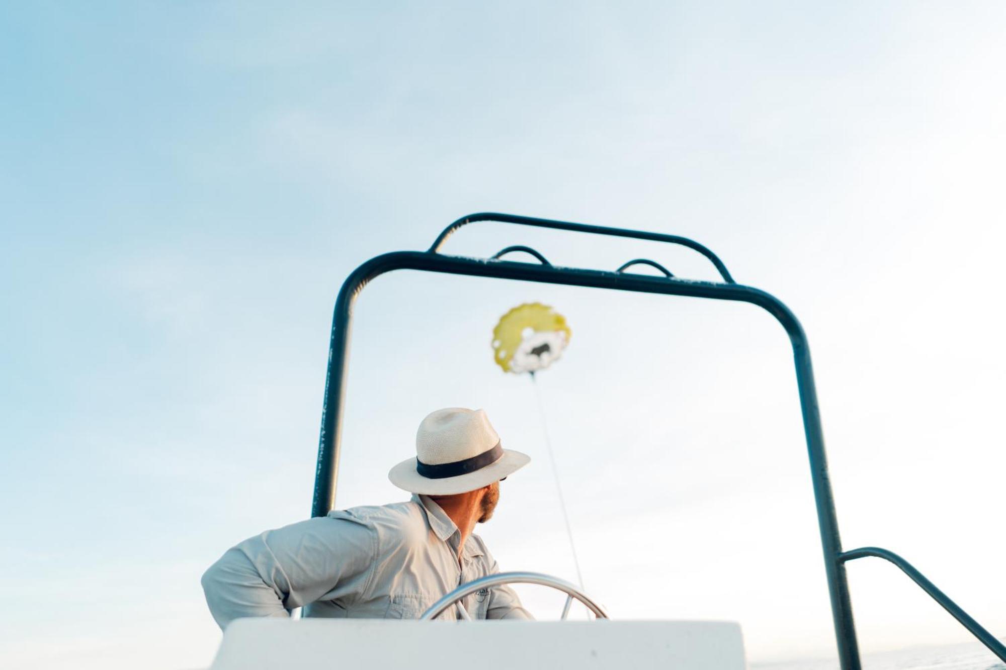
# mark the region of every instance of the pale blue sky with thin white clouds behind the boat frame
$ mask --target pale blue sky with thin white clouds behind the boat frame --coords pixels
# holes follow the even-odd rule
[[[689,235],[787,302],[845,544],[1006,634],[1004,28],[995,2],[5,5],[5,665],[207,665],[199,574],[309,512],[339,285],[476,210]],[[445,252],[510,243],[714,278],[503,225]],[[571,576],[530,388],[488,346],[528,300],[573,330],[541,383],[589,591],[738,620],[753,661],[832,654],[788,343],[749,307],[381,278],[339,504],[400,499],[422,416],[483,406],[535,459],[484,536]],[[967,639],[893,568],[850,574],[866,649]]]

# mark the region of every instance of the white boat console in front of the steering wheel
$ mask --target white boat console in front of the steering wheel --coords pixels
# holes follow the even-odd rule
[[[684,621],[239,619],[211,670],[744,670],[740,627]]]

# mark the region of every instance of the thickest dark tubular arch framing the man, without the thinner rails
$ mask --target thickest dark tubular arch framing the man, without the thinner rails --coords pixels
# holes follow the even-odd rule
[[[575,228],[574,228],[575,229]],[[445,233],[450,231],[447,230]],[[442,237],[446,236],[442,234]],[[630,234],[629,236],[633,236]],[[435,247],[437,244],[435,244]],[[339,455],[342,445],[342,416],[346,398],[347,360],[349,355],[352,310],[356,297],[371,280],[395,270],[417,270],[470,277],[560,284],[594,289],[612,289],[638,293],[711,298],[757,305],[783,325],[793,347],[796,366],[797,392],[803,414],[804,435],[810,460],[814,501],[817,506],[821,548],[824,553],[825,574],[831,598],[832,619],[842,670],[860,670],[859,648],[849,603],[845,564],[838,558],[842,543],[838,532],[835,502],[828,476],[824,434],[818,408],[817,390],[811,353],[800,321],[776,297],[751,287],[718,282],[694,282],[666,277],[652,277],[633,273],[613,273],[599,270],[577,270],[538,266],[531,263],[499,261],[444,256],[431,252],[393,252],[370,259],[346,279],[335,302],[332,334],[329,344],[328,371],[325,379],[325,403],[322,407],[321,435],[318,439],[318,464],[315,471],[312,516],[325,516],[335,504],[335,491],[339,473]]]

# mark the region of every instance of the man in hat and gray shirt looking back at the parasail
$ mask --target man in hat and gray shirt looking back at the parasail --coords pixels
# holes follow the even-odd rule
[[[312,617],[417,619],[459,584],[498,572],[472,530],[492,516],[499,481],[530,457],[504,450],[485,411],[459,407],[423,420],[415,453],[388,473],[409,502],[335,510],[228,549],[202,576],[220,628],[307,605]],[[507,587],[458,607],[472,619],[531,619]]]

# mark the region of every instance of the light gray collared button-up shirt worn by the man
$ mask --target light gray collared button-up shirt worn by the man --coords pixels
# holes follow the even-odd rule
[[[307,616],[418,619],[459,584],[498,572],[472,534],[458,559],[461,531],[427,496],[408,502],[334,510],[267,530],[228,549],[202,575],[206,604],[220,628],[241,617]],[[508,587],[472,594],[472,619],[532,619]],[[449,608],[441,619],[456,619]]]

